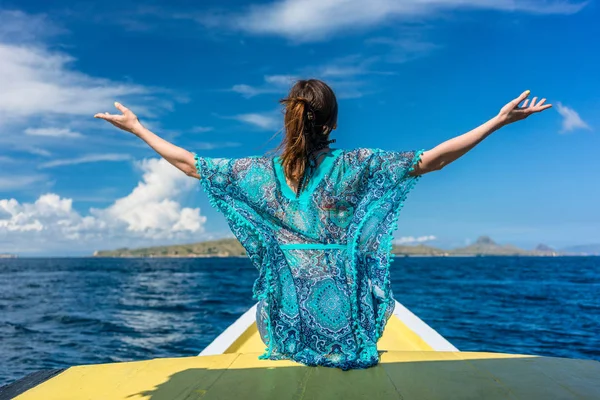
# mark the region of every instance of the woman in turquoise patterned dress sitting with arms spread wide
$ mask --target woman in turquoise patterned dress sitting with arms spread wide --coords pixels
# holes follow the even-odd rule
[[[426,173],[463,156],[497,129],[543,111],[529,91],[483,125],[427,151],[333,149],[337,101],[324,82],[297,82],[285,106],[275,157],[201,157],[121,115],[96,114],[144,140],[202,182],[259,276],[261,358],[342,369],[377,364],[377,341],[393,312],[389,264],[402,202]],[[524,101],[524,102],[523,102]],[[522,106],[519,104],[523,102]]]

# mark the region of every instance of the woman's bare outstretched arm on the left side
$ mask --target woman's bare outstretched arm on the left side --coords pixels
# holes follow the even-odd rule
[[[139,137],[150,147],[152,147],[165,160],[179,168],[186,175],[194,178],[200,178],[196,172],[196,162],[192,153],[167,142],[158,135],[152,133],[150,130],[144,128],[137,116],[121,103],[115,102],[115,107],[117,107],[117,109],[123,114],[96,114],[94,115],[94,118],[103,119],[119,129],[133,133],[135,136]]]

